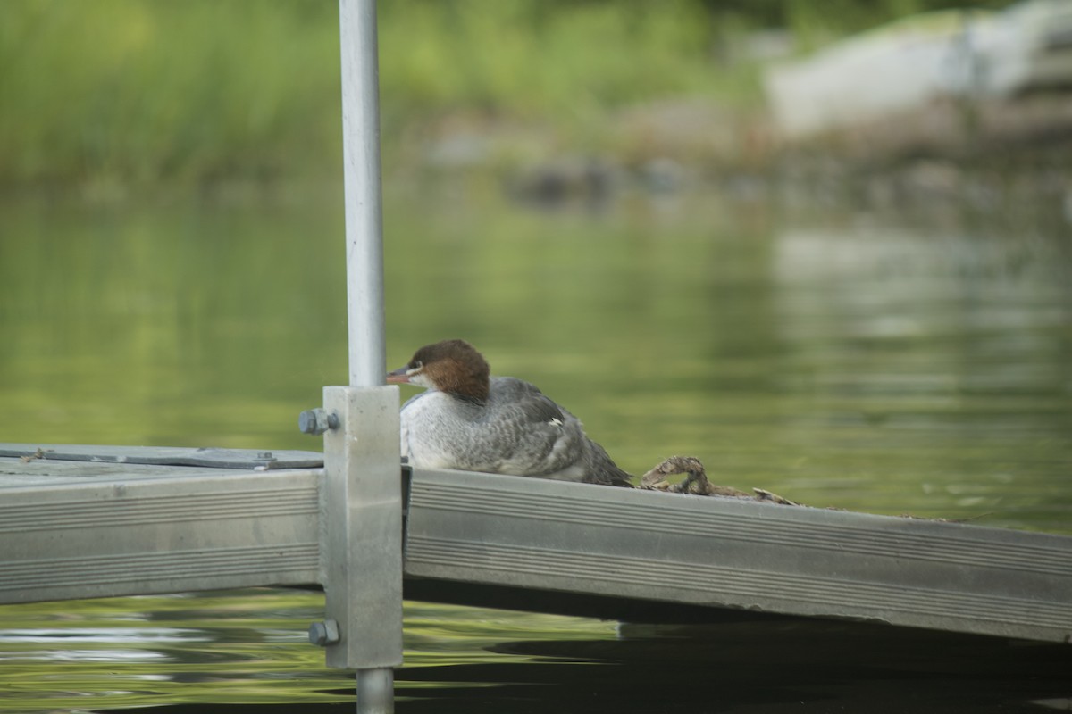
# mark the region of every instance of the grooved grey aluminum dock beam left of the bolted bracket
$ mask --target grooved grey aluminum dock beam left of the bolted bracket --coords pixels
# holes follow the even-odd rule
[[[100,467],[14,460],[20,478],[0,489],[0,603],[319,580],[323,469],[109,465],[74,478]]]

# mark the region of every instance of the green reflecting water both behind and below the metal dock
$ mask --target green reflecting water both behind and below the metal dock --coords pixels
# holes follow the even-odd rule
[[[810,505],[1072,533],[1067,225],[803,219],[709,199],[547,212],[464,185],[391,188],[389,364],[467,338],[635,473],[687,453],[717,483]],[[346,379],[336,191],[9,202],[0,217],[0,441],[318,446],[296,421]],[[348,675],[304,642],[322,607],[281,591],[2,607],[0,712],[348,711]],[[730,631],[652,639],[420,604],[406,628],[410,712],[716,711],[715,662],[745,687],[718,697],[735,711],[1072,696],[1044,674],[1032,687],[917,655],[870,680],[844,674],[863,666],[849,650],[802,669],[786,633],[773,657]],[[930,684],[909,700],[902,679]]]

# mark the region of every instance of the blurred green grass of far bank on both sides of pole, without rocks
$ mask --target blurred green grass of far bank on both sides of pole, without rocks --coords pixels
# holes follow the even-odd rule
[[[628,154],[651,140],[642,120],[610,131],[630,107],[696,100],[727,108],[723,123],[759,109],[756,65],[725,51],[753,29],[814,39],[925,4],[384,0],[385,157],[412,163],[443,133],[490,125]],[[338,57],[328,0],[6,0],[0,186],[334,177]]]

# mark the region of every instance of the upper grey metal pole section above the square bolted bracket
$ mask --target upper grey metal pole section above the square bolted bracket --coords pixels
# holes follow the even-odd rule
[[[340,0],[349,383],[384,383],[384,247],[375,0]]]

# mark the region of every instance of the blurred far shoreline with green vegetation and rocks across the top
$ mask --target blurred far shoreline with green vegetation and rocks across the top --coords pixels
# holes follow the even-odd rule
[[[747,196],[777,176],[893,200],[983,195],[1012,171],[1072,200],[1054,178],[1067,142],[921,156],[774,137],[765,62],[957,4],[382,0],[385,179],[461,172],[554,199],[623,182]],[[0,192],[123,200],[336,181],[338,43],[336,3],[316,0],[0,3]],[[889,176],[860,188],[861,171]]]

